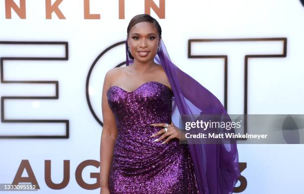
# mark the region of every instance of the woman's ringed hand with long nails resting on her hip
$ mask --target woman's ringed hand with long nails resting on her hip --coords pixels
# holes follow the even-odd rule
[[[165,123],[153,123],[153,124],[150,124],[150,125],[153,126],[153,127],[165,127],[166,126]],[[166,137],[167,137],[167,139],[165,141],[163,141],[161,144],[166,144],[173,138],[177,138],[180,141],[185,141],[186,140],[184,132],[182,132],[182,130],[177,128],[173,124],[173,122],[171,122],[171,124],[168,124],[167,132],[165,132],[165,129],[162,128],[157,133],[152,134],[152,136],[150,136],[150,138],[156,137],[156,136],[161,135],[161,134],[162,134],[162,136],[160,138],[155,139],[153,142],[159,142]]]

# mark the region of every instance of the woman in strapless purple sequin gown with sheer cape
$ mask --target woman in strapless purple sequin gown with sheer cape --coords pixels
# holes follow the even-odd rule
[[[222,145],[179,144],[186,139],[171,119],[172,101],[180,114],[227,114],[219,100],[171,63],[161,28],[150,15],[131,19],[126,46],[127,66],[108,71],[104,79],[101,193],[232,192],[239,176],[236,146],[225,151]],[[195,99],[189,86],[198,89],[195,97],[206,99]],[[221,161],[213,167],[209,159]]]

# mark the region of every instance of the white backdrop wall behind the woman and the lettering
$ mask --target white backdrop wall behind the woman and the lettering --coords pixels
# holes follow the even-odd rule
[[[159,0],[154,1],[159,6]],[[19,6],[19,0],[14,2]],[[117,0],[90,0],[90,13],[100,14],[100,19],[83,18],[83,0],[61,2],[59,8],[66,19],[58,19],[55,13],[52,19],[46,19],[44,0],[25,2],[26,19],[20,19],[13,10],[11,19],[7,19],[5,1],[0,1],[3,65],[0,96],[50,98],[5,99],[3,106],[1,104],[0,136],[65,137],[68,127],[69,138],[0,139],[0,183],[11,183],[21,161],[28,160],[41,194],[97,194],[99,188],[87,190],[76,181],[76,168],[81,162],[99,161],[102,127],[90,111],[88,100],[91,110],[102,121],[104,75],[125,61],[124,45],[111,48],[94,66],[92,64],[106,48],[125,41],[128,23],[136,14],[145,12],[145,1],[125,0],[125,19],[119,19]],[[162,39],[172,62],[213,92],[223,104],[224,59],[188,58],[188,40],[286,38],[286,57],[248,60],[247,113],[304,113],[304,7],[300,0],[165,0],[164,12],[164,19],[153,10],[151,15],[162,27]],[[25,42],[63,43],[24,45]],[[280,41],[210,42],[191,46],[194,55],[228,56],[230,114],[242,114],[244,109],[244,56],[282,54],[283,48]],[[6,60],[3,57],[59,57],[61,60]],[[3,119],[60,121],[9,123]],[[242,186],[243,194],[298,194],[303,191],[304,145],[238,145],[238,151],[239,162],[247,166],[241,172],[247,180]],[[62,182],[64,160],[70,160],[70,180],[64,189],[53,190],[47,186],[45,160],[51,160],[54,183]],[[85,183],[94,184],[98,180],[90,177],[90,173],[98,172],[99,168],[87,166],[81,177]],[[22,176],[28,176],[26,171]]]

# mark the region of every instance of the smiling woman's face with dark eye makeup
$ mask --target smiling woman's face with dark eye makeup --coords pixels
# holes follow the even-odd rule
[[[154,59],[160,39],[151,22],[139,22],[129,32],[128,44],[134,60],[148,62]]]

